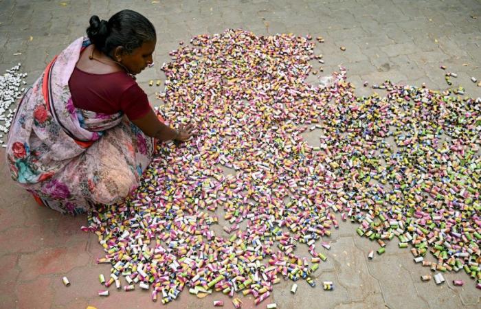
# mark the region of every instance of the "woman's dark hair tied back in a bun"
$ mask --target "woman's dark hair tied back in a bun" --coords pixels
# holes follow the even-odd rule
[[[144,42],[156,39],[154,25],[144,15],[133,10],[122,10],[109,21],[100,21],[97,15],[91,16],[87,36],[91,43],[108,56],[112,56],[115,47],[122,46],[130,54]]]

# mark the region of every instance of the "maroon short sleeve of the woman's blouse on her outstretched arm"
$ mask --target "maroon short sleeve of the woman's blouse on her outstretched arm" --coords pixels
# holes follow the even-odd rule
[[[150,104],[146,93],[137,83],[128,87],[120,98],[120,110],[128,119],[135,120],[145,116],[150,111]]]

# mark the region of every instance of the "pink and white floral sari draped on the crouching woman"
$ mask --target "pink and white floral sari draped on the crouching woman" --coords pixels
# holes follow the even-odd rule
[[[134,190],[153,155],[153,139],[122,115],[76,108],[69,78],[82,50],[78,38],[47,66],[17,108],[7,144],[12,179],[36,201],[79,214],[118,203]]]

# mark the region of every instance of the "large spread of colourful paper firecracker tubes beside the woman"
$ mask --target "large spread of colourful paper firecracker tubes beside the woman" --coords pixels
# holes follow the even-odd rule
[[[349,220],[377,254],[394,240],[436,284],[462,271],[481,288],[480,98],[389,80],[374,86],[385,95],[360,97],[344,68],[309,84],[311,62],[322,63],[310,36],[225,30],[190,43],[161,68],[157,113],[199,134],[159,145],[135,193],[89,215],[82,229],[112,266],[102,284],[138,286],[163,304],[184,289],[260,304],[281,279],[315,288],[332,228]]]

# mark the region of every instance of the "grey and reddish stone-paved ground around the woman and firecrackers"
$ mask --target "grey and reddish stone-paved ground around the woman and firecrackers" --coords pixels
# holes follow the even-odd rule
[[[445,89],[446,65],[458,73],[453,78],[472,96],[481,95],[469,78],[481,80],[481,2],[394,1],[394,0],[231,0],[231,1],[41,1],[0,0],[0,71],[17,62],[29,73],[32,83],[45,64],[68,43],[84,34],[89,17],[107,19],[123,8],[145,14],[157,27],[155,62],[168,60],[168,52],[190,36],[217,33],[240,27],[256,34],[293,32],[324,36],[317,45],[324,54],[326,72],[342,64],[348,79],[360,94],[363,80],[371,84],[385,78],[433,89]],[[476,16],[478,18],[476,19]],[[344,45],[346,52],[340,52]],[[21,52],[19,56],[13,54]],[[151,100],[156,87],[152,78],[161,77],[159,65],[139,76],[139,83]],[[311,78],[315,81],[315,77]],[[0,157],[4,152],[0,150]],[[96,237],[79,230],[85,217],[61,216],[37,207],[33,199],[12,181],[4,159],[0,160],[0,273],[1,308],[153,308],[147,293],[116,292],[100,298],[97,276],[109,273],[98,266],[102,254]],[[480,290],[464,273],[447,274],[447,284],[421,282],[428,273],[414,264],[410,251],[388,244],[387,253],[368,261],[366,255],[377,245],[355,234],[355,225],[344,223],[333,232],[328,261],[317,271],[317,282],[332,280],[335,290],[310,288],[300,282],[296,295],[289,293],[291,282],[276,286],[270,301],[279,308],[480,308]],[[71,286],[61,282],[67,275]],[[467,284],[452,286],[452,279]],[[167,308],[212,308],[213,299],[197,299],[182,293]],[[244,298],[244,308],[253,307]],[[268,300],[269,301],[269,300]],[[260,308],[265,308],[265,304]]]

